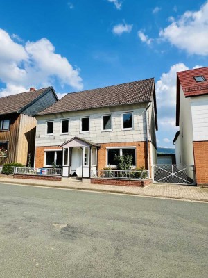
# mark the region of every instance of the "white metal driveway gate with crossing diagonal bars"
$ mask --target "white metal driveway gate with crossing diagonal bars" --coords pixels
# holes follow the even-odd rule
[[[195,185],[194,165],[153,165],[153,181]]]

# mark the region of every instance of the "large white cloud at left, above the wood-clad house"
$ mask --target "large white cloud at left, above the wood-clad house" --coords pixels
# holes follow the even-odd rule
[[[0,80],[6,83],[6,88],[0,89],[0,97],[32,86],[53,85],[55,81],[62,86],[83,88],[79,70],[73,69],[67,58],[55,54],[55,47],[46,38],[23,45],[0,29],[0,64]]]

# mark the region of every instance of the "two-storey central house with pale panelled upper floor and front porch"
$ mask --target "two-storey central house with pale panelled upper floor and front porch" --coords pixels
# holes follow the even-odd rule
[[[116,169],[115,155],[131,155],[135,168],[156,163],[154,79],[69,93],[36,118],[35,167],[89,178]]]

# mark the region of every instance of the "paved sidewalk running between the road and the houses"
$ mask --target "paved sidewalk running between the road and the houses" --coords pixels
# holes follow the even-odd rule
[[[140,195],[146,197],[162,197],[173,199],[187,199],[192,201],[208,202],[208,188],[196,186],[180,186],[173,184],[152,184],[145,188],[130,186],[107,186],[101,184],[89,184],[76,181],[38,181],[33,179],[12,179],[11,177],[0,177],[1,183],[15,183],[28,186],[45,186],[52,188],[65,188],[76,190],[92,190],[106,193],[122,193]]]

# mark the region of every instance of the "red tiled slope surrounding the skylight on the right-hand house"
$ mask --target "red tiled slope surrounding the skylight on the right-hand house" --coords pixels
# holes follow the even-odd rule
[[[177,76],[185,97],[208,94],[208,67],[177,72]],[[206,81],[197,82],[195,76],[204,76]]]

